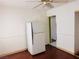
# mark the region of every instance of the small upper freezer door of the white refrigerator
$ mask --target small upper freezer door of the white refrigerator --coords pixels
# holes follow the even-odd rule
[[[44,32],[44,24],[41,22],[33,22],[33,33],[43,33]]]

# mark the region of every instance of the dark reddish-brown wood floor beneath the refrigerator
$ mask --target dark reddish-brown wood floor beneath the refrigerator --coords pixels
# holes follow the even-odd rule
[[[35,56],[31,56],[28,51],[23,51],[17,54],[1,57],[0,59],[79,59],[79,58],[48,45],[46,46],[45,52]]]

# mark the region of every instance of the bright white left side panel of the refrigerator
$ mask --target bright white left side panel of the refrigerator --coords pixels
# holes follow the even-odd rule
[[[27,35],[27,46],[28,51],[32,52],[32,30],[31,23],[26,23],[26,35]]]

